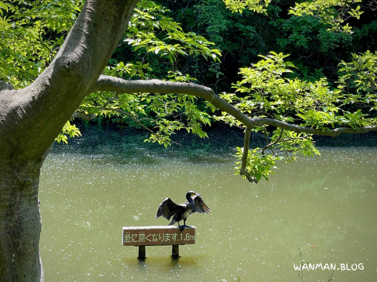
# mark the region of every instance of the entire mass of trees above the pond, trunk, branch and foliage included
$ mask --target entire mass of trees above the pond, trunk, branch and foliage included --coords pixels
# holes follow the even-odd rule
[[[0,280],[43,281],[40,169],[76,118],[165,146],[177,130],[240,127],[236,173],[256,183],[317,154],[313,135],[377,130],[374,3],[0,2]]]

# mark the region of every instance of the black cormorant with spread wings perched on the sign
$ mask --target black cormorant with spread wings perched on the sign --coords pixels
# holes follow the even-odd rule
[[[194,197],[192,197],[194,196]],[[177,205],[170,198],[166,198],[164,202],[158,207],[156,212],[156,219],[158,217],[165,217],[167,220],[170,220],[170,217],[173,216],[172,221],[169,225],[173,225],[178,222],[178,227],[181,231],[185,227],[190,227],[186,225],[187,217],[194,212],[201,212],[209,214],[211,210],[205,205],[200,194],[195,193],[194,191],[189,191],[186,194],[186,199],[189,202],[185,202],[181,205]],[[183,225],[179,225],[179,221],[183,220]]]

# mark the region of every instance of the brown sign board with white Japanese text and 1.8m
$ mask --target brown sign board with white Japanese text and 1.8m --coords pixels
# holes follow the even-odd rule
[[[195,226],[181,230],[177,226],[123,227],[123,246],[159,246],[195,244]]]

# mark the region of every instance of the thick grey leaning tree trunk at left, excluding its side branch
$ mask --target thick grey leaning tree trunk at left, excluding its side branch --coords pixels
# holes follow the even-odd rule
[[[43,281],[40,168],[106,66],[137,0],[87,0],[51,65],[28,87],[0,92],[0,281]],[[5,90],[4,90],[5,89]]]

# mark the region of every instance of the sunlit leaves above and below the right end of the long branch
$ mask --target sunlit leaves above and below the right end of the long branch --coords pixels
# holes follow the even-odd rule
[[[286,123],[321,129],[322,132],[336,127],[359,127],[377,124],[368,112],[375,105],[377,88],[375,54],[367,52],[354,55],[352,62],[342,62],[339,87],[331,88],[325,78],[308,82],[293,78],[294,65],[285,62],[287,55],[271,52],[249,68],[241,68],[242,80],[233,84],[236,93],[219,96],[232,103],[249,117],[268,117]],[[362,85],[362,86],[360,86]],[[349,111],[344,105],[357,103],[368,105],[368,111]],[[213,110],[213,107],[208,105]],[[234,117],[222,112],[215,120],[243,127]],[[271,162],[279,159],[292,161],[296,155],[318,155],[311,136],[288,130],[276,129],[271,134],[264,125],[253,131],[265,136],[266,146],[250,150],[247,172],[259,180],[271,173]],[[241,159],[242,150],[237,156]],[[271,153],[271,155],[267,154]],[[240,164],[240,163],[239,163]],[[275,164],[274,164],[275,165]],[[239,170],[241,167],[237,167]]]

